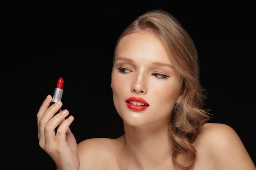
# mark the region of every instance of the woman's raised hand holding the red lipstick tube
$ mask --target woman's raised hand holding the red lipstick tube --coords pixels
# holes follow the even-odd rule
[[[52,97],[48,95],[37,113],[39,145],[54,160],[58,170],[78,170],[77,143],[69,128],[74,117],[65,119],[68,110],[54,116],[61,109],[62,102],[50,106],[51,100]]]

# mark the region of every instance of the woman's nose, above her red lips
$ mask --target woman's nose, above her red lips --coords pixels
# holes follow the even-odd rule
[[[134,82],[132,83],[131,91],[133,93],[144,93],[145,94],[147,92],[145,77],[143,77],[142,75],[137,75],[137,77],[135,77]]]

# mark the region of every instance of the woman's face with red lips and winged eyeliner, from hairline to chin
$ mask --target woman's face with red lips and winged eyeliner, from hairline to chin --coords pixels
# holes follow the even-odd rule
[[[112,68],[112,90],[120,117],[132,126],[169,124],[182,78],[153,33],[126,35]]]

